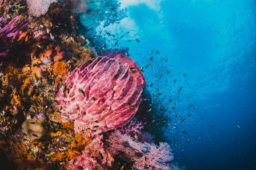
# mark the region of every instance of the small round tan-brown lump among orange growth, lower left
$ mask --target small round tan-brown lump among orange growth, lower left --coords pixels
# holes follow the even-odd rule
[[[35,139],[40,139],[45,135],[45,128],[43,128],[42,124],[32,119],[25,120],[21,127],[22,132],[27,135],[29,140],[34,141]]]

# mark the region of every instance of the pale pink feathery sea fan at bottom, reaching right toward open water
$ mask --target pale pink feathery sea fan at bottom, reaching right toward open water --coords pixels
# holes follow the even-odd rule
[[[173,159],[171,147],[167,143],[160,143],[159,146],[146,142],[142,144],[119,130],[112,132],[106,142],[109,152],[131,159],[135,169],[172,170],[166,163]]]

